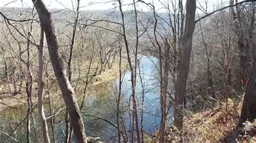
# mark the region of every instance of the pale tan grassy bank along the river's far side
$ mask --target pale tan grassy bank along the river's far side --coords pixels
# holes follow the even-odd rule
[[[123,63],[122,68],[125,67],[125,63]],[[90,73],[92,74],[92,72]],[[96,74],[94,77],[92,77],[92,80],[87,85],[87,92],[92,91],[93,89],[97,88],[98,90],[100,87],[104,87],[105,85],[108,85],[106,83],[110,83],[114,79],[116,79],[119,75],[119,66],[118,63],[113,63],[112,67],[109,69],[106,69],[102,71],[100,74]],[[51,81],[51,89],[57,90],[57,92],[54,92],[52,94],[50,92],[51,98],[55,101],[59,101],[61,96],[60,90],[58,90],[58,84],[57,81]],[[76,83],[73,83],[76,84]],[[23,85],[24,86],[24,85]],[[12,94],[9,92],[7,83],[2,82],[0,90],[0,111],[5,110],[5,108],[12,108],[12,109],[19,109],[21,106],[26,106],[26,92],[25,89],[22,89],[21,93],[18,94]],[[12,84],[9,84],[9,87],[12,87]],[[74,87],[74,86],[73,86]],[[22,87],[23,88],[23,87]],[[75,87],[74,87],[75,88]],[[77,85],[77,89],[75,90],[76,96],[78,99],[83,97],[83,89],[84,85]],[[33,97],[32,102],[33,104],[37,104],[37,82],[33,83]],[[59,96],[59,97],[58,97]],[[46,101],[47,102],[47,101]],[[63,102],[64,104],[64,102]]]

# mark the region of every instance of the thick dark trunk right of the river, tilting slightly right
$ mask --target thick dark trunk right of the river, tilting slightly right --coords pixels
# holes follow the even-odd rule
[[[196,0],[186,1],[186,12],[185,31],[181,45],[181,61],[174,99],[174,125],[179,131],[182,131],[183,128],[183,102],[186,91],[188,71],[190,69],[190,56],[195,25],[194,18],[196,14]]]

